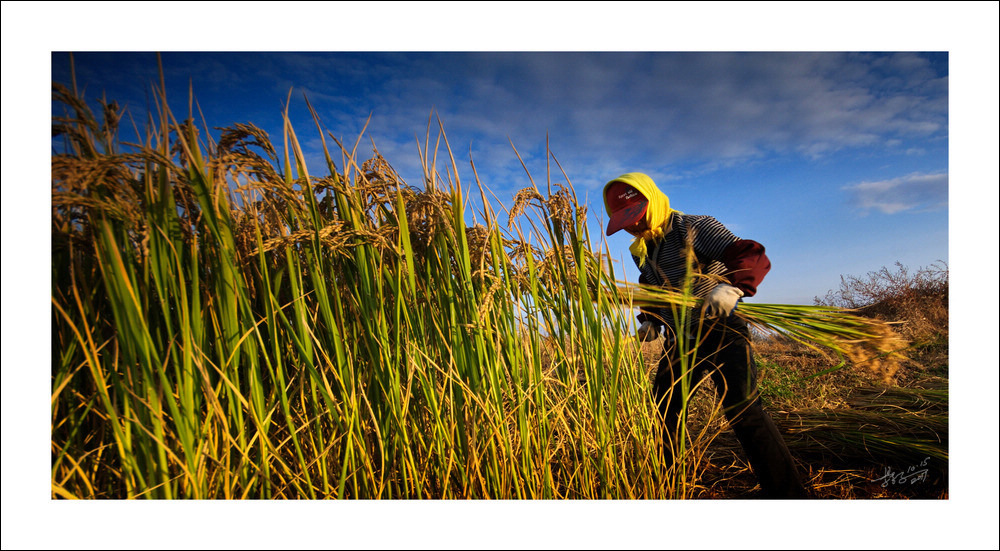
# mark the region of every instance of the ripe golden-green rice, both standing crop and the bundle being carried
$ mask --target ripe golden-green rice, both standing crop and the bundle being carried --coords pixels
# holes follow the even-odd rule
[[[697,299],[621,281],[551,154],[495,210],[440,124],[416,187],[315,113],[323,174],[287,113],[280,137],[235,124],[216,141],[162,92],[140,122],[62,85],[53,99],[53,498],[704,492],[722,429],[689,432],[668,471],[630,337],[634,307]],[[829,307],[741,315],[886,380],[907,346]]]

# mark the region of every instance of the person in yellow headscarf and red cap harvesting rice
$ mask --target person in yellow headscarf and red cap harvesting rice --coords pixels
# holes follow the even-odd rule
[[[703,339],[693,367],[691,388],[707,373],[722,394],[730,426],[750,460],[767,498],[799,498],[808,493],[774,422],[757,393],[757,367],[750,349],[747,324],[734,315],[741,297],[753,296],[771,262],[756,241],[740,239],[715,218],[670,208],[667,196],[649,176],[633,172],[604,187],[608,235],[624,229],[635,240],[629,247],[639,267],[639,283],[680,289],[686,272],[685,250],[694,250],[693,293],[704,298],[685,328],[678,328],[669,308],[642,310],[637,337],[642,341],[664,332],[664,356],[657,366],[653,389],[663,417],[663,450],[668,465],[677,448],[681,397],[678,338],[691,350],[694,335]],[[680,335],[678,332],[680,331]],[[689,369],[691,367],[689,366]]]

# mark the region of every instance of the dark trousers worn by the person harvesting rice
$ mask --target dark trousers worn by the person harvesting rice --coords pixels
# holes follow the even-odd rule
[[[653,388],[663,416],[664,455],[667,464],[672,465],[683,407],[682,366],[673,328],[668,327],[666,333],[666,354],[660,360]],[[784,439],[761,406],[757,392],[757,365],[750,349],[746,322],[736,316],[706,320],[702,334],[703,340],[698,344],[694,365],[688,361],[686,366],[692,373],[691,386],[706,373],[711,375],[716,392],[722,396],[723,413],[760,482],[762,497],[808,497]],[[687,351],[690,352],[690,338],[688,342]]]

